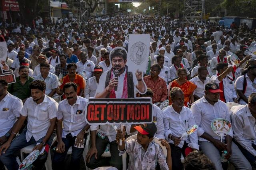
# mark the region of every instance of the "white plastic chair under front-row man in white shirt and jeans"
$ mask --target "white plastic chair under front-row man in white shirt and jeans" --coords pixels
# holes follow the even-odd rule
[[[55,135],[53,137],[52,144],[56,141],[56,139],[57,139],[57,136]],[[52,146],[52,144],[51,144],[51,146]],[[24,153],[31,153],[32,149],[35,147],[35,145],[36,144],[31,144],[31,145],[28,145],[28,146],[26,146],[26,147],[24,147],[20,150],[21,161],[24,160]],[[48,151],[47,160],[44,163],[46,170],[52,170],[52,157],[51,157],[51,152],[50,152],[51,151],[51,146],[50,146],[49,151]]]

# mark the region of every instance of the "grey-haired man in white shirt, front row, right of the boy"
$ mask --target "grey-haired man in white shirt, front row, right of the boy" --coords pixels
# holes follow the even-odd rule
[[[173,87],[170,96],[172,105],[163,111],[164,136],[171,146],[172,169],[183,169],[180,156],[185,149],[199,150],[197,134],[180,138],[188,128],[194,126],[195,119],[191,110],[184,106],[184,93],[179,87]]]

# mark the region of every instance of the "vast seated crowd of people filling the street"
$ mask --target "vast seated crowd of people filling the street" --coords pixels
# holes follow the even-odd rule
[[[151,37],[148,66],[133,77],[126,68],[130,34]],[[69,166],[80,169],[89,136],[85,162],[92,169],[122,169],[125,152],[128,169],[222,170],[228,162],[236,169],[256,169],[256,55],[249,53],[256,47],[256,30],[245,23],[228,28],[138,15],[81,25],[74,19],[52,23],[38,17],[30,26],[0,19],[0,41],[7,44],[0,73],[16,77],[12,84],[0,80],[0,163],[8,170],[19,168],[16,152],[30,144],[44,150],[33,163],[36,169],[44,168],[53,148],[52,169],[65,169],[70,147]],[[240,60],[236,67],[232,54]],[[113,68],[119,70],[118,80]],[[100,81],[102,76],[106,81]],[[85,121],[90,97],[150,97],[153,122],[90,126]],[[169,106],[161,110],[166,100]],[[239,105],[229,109],[229,102]],[[216,118],[232,124],[223,142],[211,128]],[[197,131],[182,137],[193,125]],[[136,139],[125,140],[133,134]],[[106,147],[109,158],[101,156]]]

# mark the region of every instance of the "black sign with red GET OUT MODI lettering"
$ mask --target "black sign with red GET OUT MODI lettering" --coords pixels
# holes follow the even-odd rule
[[[89,99],[85,120],[90,125],[151,123],[151,98]]]

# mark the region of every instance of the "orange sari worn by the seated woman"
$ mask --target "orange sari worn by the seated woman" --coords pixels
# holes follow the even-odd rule
[[[186,83],[183,83],[182,85],[179,85],[179,83],[176,80],[172,81],[170,84],[171,84],[171,88],[173,88],[173,87],[181,88],[181,90],[184,93],[184,106],[188,107],[188,102],[191,103],[189,96],[195,91],[197,85],[195,85],[194,83],[191,83],[190,81],[187,81]],[[169,86],[170,85],[168,85],[168,89],[170,89]],[[169,101],[170,101],[169,105],[171,105],[172,99],[170,96],[170,92],[169,92]]]

